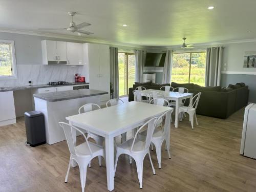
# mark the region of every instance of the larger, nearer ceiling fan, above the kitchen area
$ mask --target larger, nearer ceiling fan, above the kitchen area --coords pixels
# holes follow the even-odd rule
[[[53,28],[40,28],[39,30],[67,30],[67,31],[70,31],[70,32],[78,32],[78,33],[82,33],[82,34],[86,34],[86,35],[91,35],[93,33],[89,32],[89,31],[84,31],[84,30],[81,30],[81,28],[84,28],[84,27],[87,27],[87,26],[90,26],[91,24],[89,23],[81,23],[81,24],[78,24],[76,25],[74,20],[73,20],[73,17],[74,15],[76,14],[76,12],[68,12],[68,14],[71,16],[71,23],[69,25],[69,28],[59,28],[59,29],[53,29]]]

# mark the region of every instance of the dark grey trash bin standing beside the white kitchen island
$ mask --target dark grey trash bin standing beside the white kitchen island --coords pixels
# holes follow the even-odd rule
[[[44,114],[39,111],[24,113],[27,134],[27,144],[37,146],[46,143]]]

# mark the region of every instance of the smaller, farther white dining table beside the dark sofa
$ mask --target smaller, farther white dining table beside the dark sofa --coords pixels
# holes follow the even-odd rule
[[[164,96],[165,99],[167,100],[173,100],[175,101],[175,127],[179,127],[179,103],[183,99],[189,98],[189,103],[191,99],[193,98],[193,93],[179,93],[179,92],[165,92],[162,90],[154,90],[154,89],[147,89],[141,91],[142,96],[150,97],[150,92],[156,91]]]

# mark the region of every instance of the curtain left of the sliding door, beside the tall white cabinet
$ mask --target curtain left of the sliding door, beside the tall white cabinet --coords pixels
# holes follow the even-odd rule
[[[119,98],[118,48],[110,47],[110,82],[114,92],[113,98]]]

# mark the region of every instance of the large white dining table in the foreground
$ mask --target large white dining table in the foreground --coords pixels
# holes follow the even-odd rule
[[[77,126],[82,130],[100,135],[105,138],[105,162],[108,190],[114,190],[114,137],[131,131],[142,125],[147,120],[158,117],[166,111],[166,122],[170,127],[170,115],[173,108],[158,106],[142,102],[127,102],[120,105],[94,110],[87,113],[66,117],[70,125]],[[170,131],[168,131],[170,135]],[[76,146],[76,131],[72,132]],[[170,137],[168,137],[170,138]],[[169,145],[170,141],[166,141]],[[76,163],[72,161],[72,167]]]

